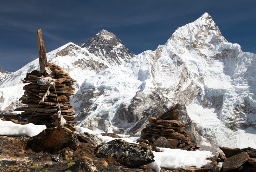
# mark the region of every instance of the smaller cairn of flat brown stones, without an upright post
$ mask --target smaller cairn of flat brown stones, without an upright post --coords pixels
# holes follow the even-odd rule
[[[154,143],[165,138],[171,144],[168,143],[170,145],[167,146],[168,148],[180,148],[188,151],[198,150],[199,147],[194,146],[190,140],[190,136],[184,130],[187,126],[177,120],[179,118],[179,112],[179,105],[177,104],[174,108],[169,109],[158,118],[148,117],[150,124],[147,124],[146,128],[143,128],[141,138],[147,139],[153,146],[158,146]]]

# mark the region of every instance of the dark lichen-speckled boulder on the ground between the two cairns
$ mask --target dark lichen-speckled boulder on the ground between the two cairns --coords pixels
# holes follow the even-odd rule
[[[95,150],[96,157],[112,157],[127,167],[139,167],[154,162],[151,146],[130,144],[116,139],[99,145]]]

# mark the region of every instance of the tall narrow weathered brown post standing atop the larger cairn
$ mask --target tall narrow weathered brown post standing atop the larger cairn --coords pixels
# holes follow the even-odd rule
[[[47,67],[47,58],[46,58],[46,49],[44,46],[41,29],[37,29],[37,45],[38,45],[38,52],[39,52],[40,71],[43,72],[45,67]]]

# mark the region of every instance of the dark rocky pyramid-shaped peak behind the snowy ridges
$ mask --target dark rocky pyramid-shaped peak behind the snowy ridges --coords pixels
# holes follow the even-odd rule
[[[90,53],[100,57],[110,66],[124,64],[135,56],[116,35],[104,29],[78,46],[88,49]]]

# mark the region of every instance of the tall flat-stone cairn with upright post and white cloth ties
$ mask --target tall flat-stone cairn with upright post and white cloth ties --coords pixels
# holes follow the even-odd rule
[[[26,78],[21,79],[28,85],[23,87],[25,92],[19,100],[27,107],[16,108],[15,111],[24,111],[21,117],[25,119],[37,117],[37,120],[33,121],[36,124],[42,124],[42,121],[52,122],[53,125],[58,124],[56,121],[61,121],[61,125],[77,123],[74,121],[75,111],[70,105],[70,96],[74,95],[75,90],[72,85],[76,80],[58,65],[47,64],[41,29],[37,29],[37,43],[40,71],[34,70],[27,73]]]

